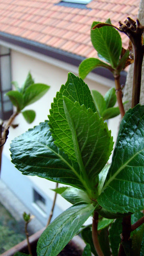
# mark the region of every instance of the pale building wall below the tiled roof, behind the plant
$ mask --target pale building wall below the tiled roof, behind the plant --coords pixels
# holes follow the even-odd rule
[[[18,127],[16,129],[10,128],[8,140],[3,151],[5,160],[3,160],[1,176],[4,182],[8,184],[8,186],[12,189],[12,191],[14,191],[20,200],[22,200],[22,202],[24,202],[24,204],[26,204],[26,206],[32,210],[32,213],[36,216],[39,215],[40,217],[40,211],[32,207],[32,188],[36,188],[41,194],[44,195],[44,198],[48,198],[48,200],[46,200],[46,214],[48,215],[51,208],[50,201],[54,197],[54,192],[50,190],[50,188],[55,188],[56,184],[36,176],[24,176],[24,178],[22,178],[22,174],[16,168],[14,168],[14,165],[13,167],[8,168],[5,162],[11,160],[9,152],[10,142],[13,138],[28,130],[28,128],[33,128],[33,126],[38,125],[39,122],[43,122],[44,120],[48,119],[47,115],[49,114],[51,102],[56,96],[56,92],[60,90],[60,86],[66,83],[68,71],[78,75],[78,68],[73,65],[65,64],[64,62],[42,56],[41,54],[34,54],[28,50],[24,52],[20,48],[14,48],[11,50],[11,68],[12,80],[17,81],[20,86],[24,83],[29,71],[35,79],[35,82],[42,82],[50,85],[50,90],[45,96],[43,96],[43,98],[27,107],[27,109],[33,109],[36,111],[36,119],[34,122],[32,124],[27,124],[22,114],[19,114],[14,121],[15,124],[18,124]],[[90,89],[96,89],[103,95],[110,88],[110,86],[114,86],[113,82],[95,74],[90,74],[88,78],[86,78],[85,82],[88,84]],[[113,120],[112,126],[114,123],[115,122]],[[9,169],[13,169],[14,171]],[[12,182],[12,180],[14,180],[14,182]],[[22,182],[22,186],[20,185],[20,182]],[[18,190],[18,186],[16,184],[22,187],[22,189]],[[28,193],[24,194],[24,189],[26,187],[31,196],[28,196]],[[60,211],[68,208],[70,203],[58,195],[57,205],[57,213],[59,214]],[[40,217],[40,219],[42,218]],[[45,219],[43,219],[42,222],[45,223]]]

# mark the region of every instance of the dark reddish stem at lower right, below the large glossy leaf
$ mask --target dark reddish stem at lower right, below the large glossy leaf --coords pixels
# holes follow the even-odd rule
[[[131,215],[125,216],[122,219],[122,235],[121,235],[121,244],[118,252],[118,256],[126,256],[122,242],[126,242],[130,238],[130,233],[132,232],[131,227]]]

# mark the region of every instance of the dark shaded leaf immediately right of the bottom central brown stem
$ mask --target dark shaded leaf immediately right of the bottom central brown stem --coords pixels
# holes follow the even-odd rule
[[[104,256],[111,256],[107,228],[100,230],[98,240]]]

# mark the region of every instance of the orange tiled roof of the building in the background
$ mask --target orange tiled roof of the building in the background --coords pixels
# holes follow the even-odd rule
[[[60,0],[0,0],[0,32],[20,36],[83,57],[96,57],[90,41],[93,21],[118,26],[136,19],[140,0],[92,0],[88,9],[57,5]],[[126,48],[128,38],[121,34]]]

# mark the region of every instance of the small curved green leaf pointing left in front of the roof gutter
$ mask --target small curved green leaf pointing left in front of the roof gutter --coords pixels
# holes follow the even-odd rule
[[[79,76],[84,79],[94,68],[103,67],[112,71],[112,67],[96,58],[83,60],[79,66]]]

